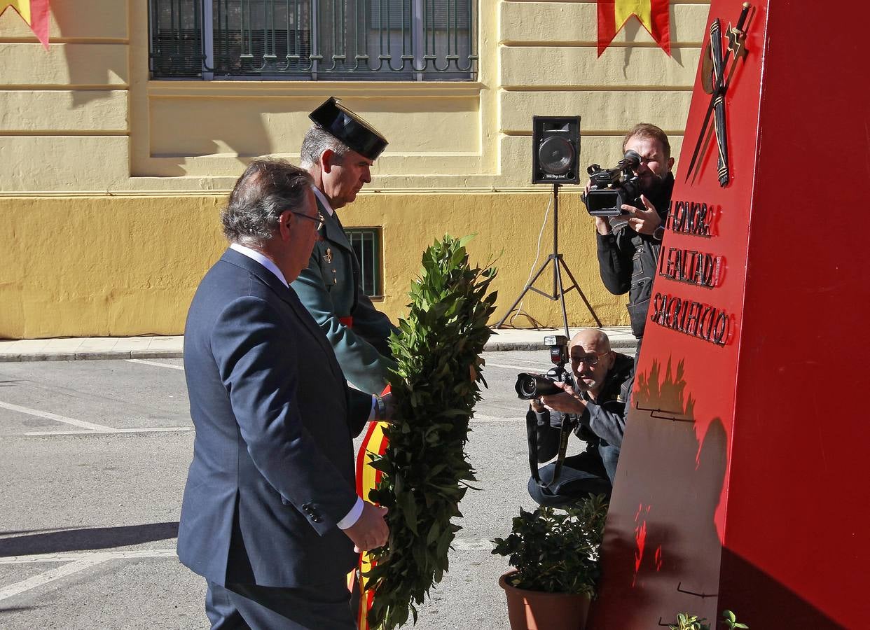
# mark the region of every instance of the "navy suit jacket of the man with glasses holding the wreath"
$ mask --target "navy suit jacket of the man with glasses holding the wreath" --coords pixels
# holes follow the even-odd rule
[[[357,555],[336,523],[357,501],[371,396],[347,387],[293,290],[228,249],[191,303],[184,370],[196,439],[178,558],[222,586],[347,574]]]

